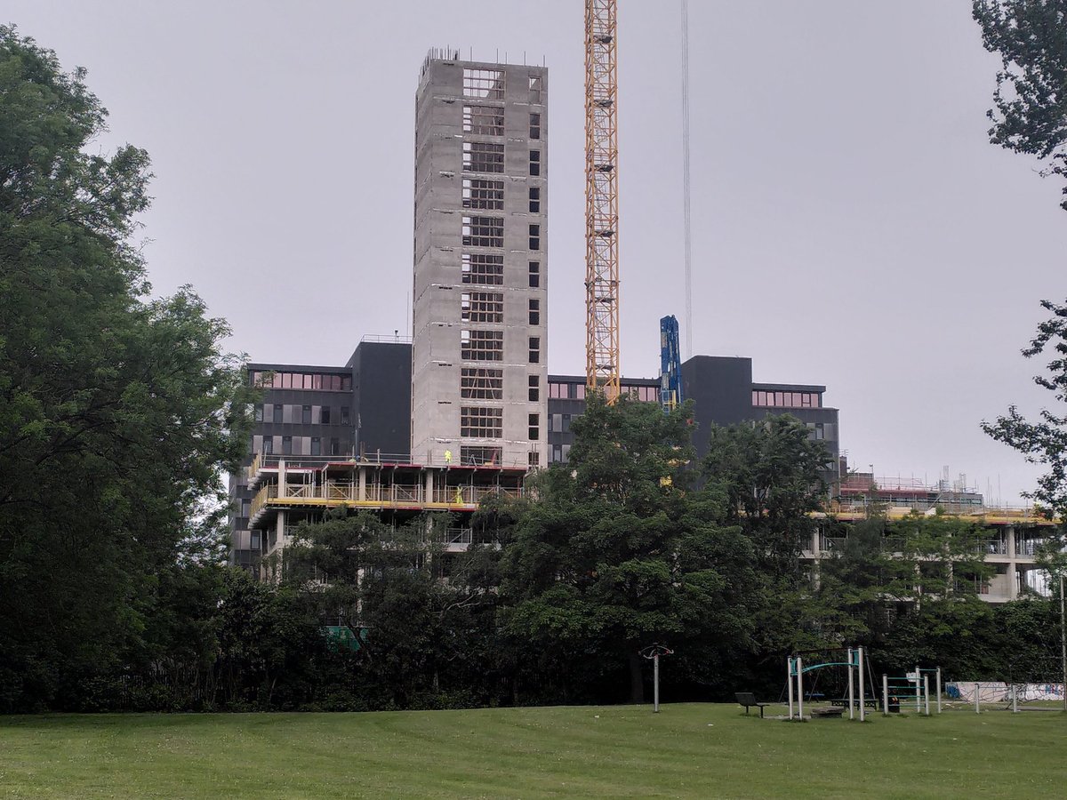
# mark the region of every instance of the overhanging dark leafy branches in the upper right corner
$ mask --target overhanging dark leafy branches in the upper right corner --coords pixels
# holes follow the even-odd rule
[[[989,141],[1067,176],[1067,0],[973,0],[972,14],[1002,63]]]

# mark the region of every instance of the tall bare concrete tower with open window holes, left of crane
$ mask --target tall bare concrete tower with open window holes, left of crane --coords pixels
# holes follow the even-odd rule
[[[431,51],[415,116],[412,460],[546,463],[547,70]]]

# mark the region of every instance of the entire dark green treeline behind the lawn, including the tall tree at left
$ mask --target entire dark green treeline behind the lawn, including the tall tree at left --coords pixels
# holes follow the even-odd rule
[[[487,502],[466,553],[432,544],[447,517],[338,513],[277,585],[225,566],[253,398],[195,294],[152,299],[148,159],[86,155],[105,118],[0,27],[0,711],[639,701],[653,642],[668,700],[775,697],[786,653],[842,644],[1054,674],[1047,601],[977,598],[972,525],[874,514],[812,574],[826,453],[784,417],[697,431],[697,463],[689,409],[593,396],[570,463]]]

